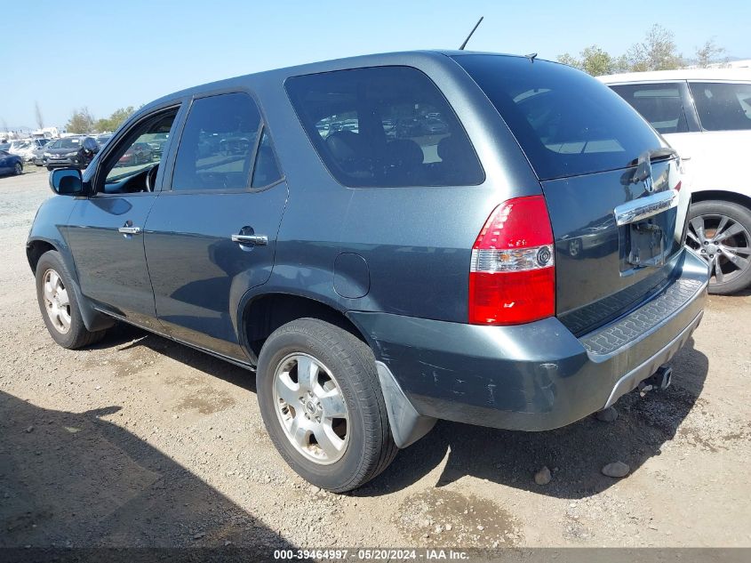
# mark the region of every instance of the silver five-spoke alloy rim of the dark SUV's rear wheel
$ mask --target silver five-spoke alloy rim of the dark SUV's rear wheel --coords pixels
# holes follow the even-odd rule
[[[339,384],[319,360],[294,353],[274,374],[274,407],[284,434],[312,462],[340,460],[349,442],[349,411]]]

